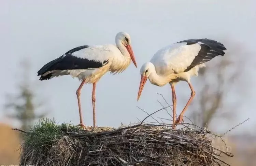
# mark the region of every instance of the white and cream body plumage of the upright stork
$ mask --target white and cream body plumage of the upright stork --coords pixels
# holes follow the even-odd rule
[[[85,84],[91,84],[97,82],[105,73],[121,73],[130,64],[131,58],[128,51],[122,54],[120,50],[112,44],[106,45],[89,45],[89,48],[79,50],[73,53],[73,56],[81,59],[93,60],[96,62],[102,62],[103,66],[99,68],[88,68],[88,69],[71,69],[71,70],[59,70],[55,71],[54,76],[60,75],[71,75],[73,78],[76,77],[79,80],[85,79]],[[107,59],[108,62],[104,63]]]

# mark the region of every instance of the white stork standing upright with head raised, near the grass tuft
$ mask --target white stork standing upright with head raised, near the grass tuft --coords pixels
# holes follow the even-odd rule
[[[57,59],[45,64],[39,71],[40,80],[47,80],[61,75],[71,75],[82,81],[76,91],[80,126],[83,124],[80,93],[84,84],[93,84],[93,93],[91,96],[93,103],[93,124],[96,126],[95,120],[95,88],[99,79],[108,71],[116,74],[123,72],[130,64],[137,64],[131,48],[130,35],[125,32],[117,33],[115,37],[115,45],[83,45],[69,50]]]

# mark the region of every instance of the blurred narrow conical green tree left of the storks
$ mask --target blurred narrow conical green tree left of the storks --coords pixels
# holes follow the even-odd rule
[[[21,63],[23,73],[22,80],[18,82],[18,93],[7,94],[8,102],[5,104],[6,110],[13,110],[12,113],[8,111],[7,116],[17,119],[22,130],[29,131],[29,126],[34,124],[36,119],[43,118],[46,112],[36,114],[36,110],[43,106],[35,102],[35,93],[32,90],[32,81],[30,80],[30,62],[25,59]]]

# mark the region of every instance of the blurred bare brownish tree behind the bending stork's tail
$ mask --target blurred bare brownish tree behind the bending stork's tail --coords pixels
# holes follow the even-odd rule
[[[191,120],[199,127],[209,126],[214,118],[231,119],[239,109],[239,102],[234,100],[236,95],[241,95],[242,91],[239,90],[244,90],[239,81],[245,69],[241,55],[246,53],[242,52],[245,49],[237,45],[227,47],[223,57],[216,57],[211,63],[207,63],[205,68],[199,70],[195,81],[201,89],[190,107]],[[233,100],[232,104],[229,104],[228,100]]]

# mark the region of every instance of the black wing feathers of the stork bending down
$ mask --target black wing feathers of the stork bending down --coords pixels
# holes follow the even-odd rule
[[[190,69],[194,68],[195,66],[205,63],[215,56],[221,55],[223,56],[225,54],[225,50],[227,50],[224,45],[220,42],[217,42],[215,40],[210,39],[190,39],[190,40],[183,40],[178,43],[186,42],[187,45],[196,44],[200,42],[201,49],[198,52],[198,55],[195,57],[195,59],[192,61],[190,66],[187,67],[184,72],[189,71]]]

